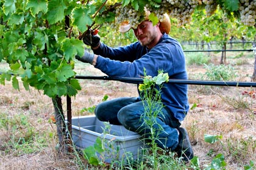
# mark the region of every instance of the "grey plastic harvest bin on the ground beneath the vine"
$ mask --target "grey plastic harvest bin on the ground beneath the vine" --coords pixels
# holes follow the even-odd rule
[[[72,135],[74,144],[80,149],[93,146],[96,138],[102,138],[105,146],[104,161],[107,163],[113,161],[127,163],[128,158],[137,160],[143,148],[148,147],[143,143],[141,135],[128,131],[124,126],[99,121],[95,115],[73,117]],[[112,143],[111,146],[110,143]],[[98,154],[98,157],[102,158],[102,155]]]

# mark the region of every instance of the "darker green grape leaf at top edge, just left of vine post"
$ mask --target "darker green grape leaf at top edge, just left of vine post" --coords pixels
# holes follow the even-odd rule
[[[65,18],[66,5],[62,0],[51,0],[48,2],[47,19],[49,24],[55,24]]]

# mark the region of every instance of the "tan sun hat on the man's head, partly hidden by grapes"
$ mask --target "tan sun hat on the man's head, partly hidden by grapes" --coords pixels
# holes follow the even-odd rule
[[[144,20],[148,20],[148,16],[149,16],[150,12],[146,12],[146,16]],[[119,27],[119,32],[121,33],[126,33],[128,32],[130,29],[132,28],[132,25],[130,25],[129,21],[123,21],[120,24]],[[163,19],[161,19],[160,21],[160,25],[159,25],[160,31],[162,33],[166,33],[169,34],[170,30],[171,30],[171,21],[169,16],[167,15],[167,13],[165,13],[163,15]]]

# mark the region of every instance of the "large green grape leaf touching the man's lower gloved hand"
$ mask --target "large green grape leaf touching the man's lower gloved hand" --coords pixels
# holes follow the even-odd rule
[[[66,38],[62,42],[62,47],[64,57],[66,61],[69,61],[75,55],[83,56],[84,55],[84,42],[79,39]]]

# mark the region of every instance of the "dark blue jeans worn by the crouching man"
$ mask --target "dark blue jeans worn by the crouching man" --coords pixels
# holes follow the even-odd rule
[[[179,135],[176,129],[180,126],[179,120],[174,118],[166,107],[160,107],[162,109],[157,117],[151,118],[154,124],[152,123],[152,126],[148,126],[145,122],[152,121],[148,121],[150,117],[145,114],[144,104],[137,97],[116,98],[98,104],[95,114],[100,121],[123,125],[126,129],[137,132],[144,138],[151,136],[150,127],[153,127],[154,134],[157,135],[155,142],[158,146],[174,151],[179,143]],[[151,109],[154,112],[154,108]]]

